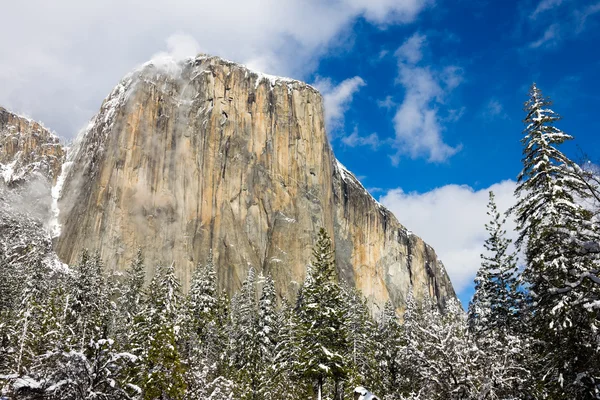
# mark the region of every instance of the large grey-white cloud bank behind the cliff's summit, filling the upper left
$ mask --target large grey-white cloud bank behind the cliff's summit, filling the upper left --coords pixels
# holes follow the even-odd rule
[[[178,40],[264,72],[303,79],[357,18],[413,21],[421,0],[55,0],[2,5],[0,104],[72,137],[121,77]],[[171,36],[182,32],[189,36]],[[184,39],[193,38],[193,41]],[[175,39],[174,39],[175,38]],[[197,46],[196,44],[199,44]],[[175,47],[173,47],[175,46]]]

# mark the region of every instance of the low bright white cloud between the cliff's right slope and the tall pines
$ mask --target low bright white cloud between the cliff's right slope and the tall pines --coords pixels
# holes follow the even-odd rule
[[[480,265],[483,242],[487,238],[488,192],[496,195],[501,212],[514,204],[516,183],[503,181],[489,188],[473,190],[469,186],[447,185],[427,193],[405,193],[393,189],[379,201],[398,220],[433,246],[446,266],[457,293],[467,288]],[[509,237],[516,238],[514,223],[507,220]]]

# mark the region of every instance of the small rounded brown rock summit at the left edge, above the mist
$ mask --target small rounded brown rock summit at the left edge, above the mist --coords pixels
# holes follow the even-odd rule
[[[0,173],[6,184],[32,175],[56,182],[64,160],[59,139],[40,123],[0,107]]]

